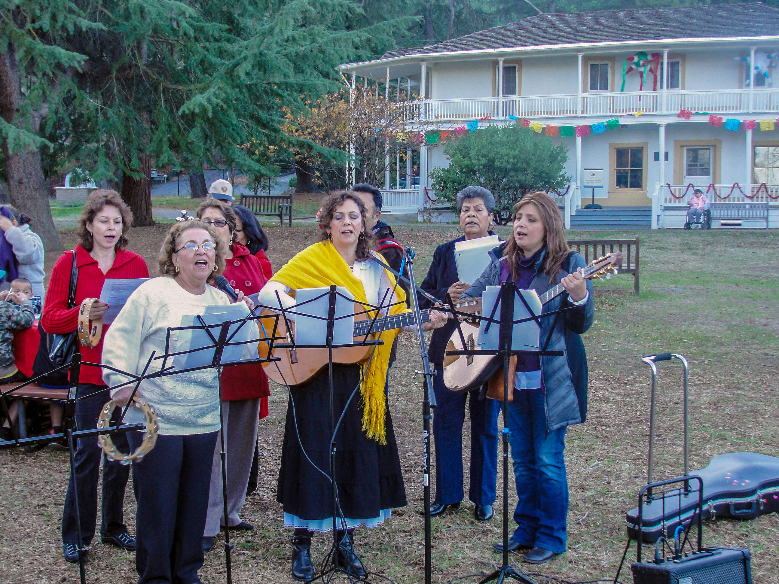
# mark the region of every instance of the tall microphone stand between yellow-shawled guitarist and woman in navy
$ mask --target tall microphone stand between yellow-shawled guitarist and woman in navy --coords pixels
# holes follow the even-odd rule
[[[408,276],[411,282],[414,282],[414,250],[405,248],[405,262],[408,266]],[[411,289],[412,291],[414,288]],[[410,292],[411,294],[411,292]],[[417,321],[417,332],[419,335],[419,344],[421,347],[422,371],[414,371],[414,377],[418,373],[425,376],[422,387],[425,392],[422,397],[422,442],[425,448],[423,458],[422,476],[424,477],[425,491],[425,584],[432,582],[432,530],[430,525],[430,419],[432,418],[432,409],[435,408],[435,392],[433,392],[433,375],[430,368],[430,359],[428,349],[425,347],[425,331],[422,330],[422,315],[419,309],[418,297],[414,297],[414,317]]]

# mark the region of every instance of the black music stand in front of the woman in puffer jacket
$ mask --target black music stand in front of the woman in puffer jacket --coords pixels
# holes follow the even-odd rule
[[[514,299],[519,297],[520,301],[524,304],[530,317],[520,318],[514,320]],[[500,318],[495,319],[495,311],[500,303]],[[488,322],[487,327],[492,324],[499,325],[498,333],[498,349],[496,350],[447,350],[447,355],[455,356],[471,356],[471,355],[495,355],[502,357],[503,361],[503,431],[502,431],[502,443],[503,443],[503,561],[500,568],[492,572],[492,574],[482,579],[480,584],[485,582],[492,582],[496,580],[498,584],[502,584],[506,579],[515,579],[524,584],[535,584],[533,580],[528,578],[524,574],[517,572],[511,565],[509,565],[509,434],[506,424],[506,411],[509,407],[509,383],[513,384],[513,379],[509,379],[509,359],[513,355],[537,355],[541,356],[559,356],[563,355],[562,351],[547,350],[550,341],[552,340],[552,332],[557,324],[557,319],[562,315],[562,311],[566,310],[561,308],[556,311],[546,312],[542,315],[536,315],[533,309],[527,304],[527,300],[520,294],[520,290],[516,287],[515,282],[504,282],[500,287],[499,297],[495,299],[495,306],[492,308],[492,312],[488,317],[483,315],[467,315],[462,312],[458,312],[453,307],[452,303],[449,303],[449,308],[456,317],[464,316],[465,318],[476,318],[478,320],[485,320]],[[541,327],[541,318],[548,318],[550,316],[555,317],[555,321],[552,323],[552,327],[549,330],[549,334],[544,340],[544,345],[541,350],[512,350],[512,332],[513,326],[522,322],[534,321]],[[460,322],[457,323],[457,330],[460,333],[460,339],[463,342],[463,347],[467,347],[465,343],[465,337],[461,329]]]

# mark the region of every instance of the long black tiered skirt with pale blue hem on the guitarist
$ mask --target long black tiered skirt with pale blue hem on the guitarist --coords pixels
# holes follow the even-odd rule
[[[387,443],[380,445],[362,430],[361,395],[359,389],[354,392],[359,382],[358,365],[333,366],[336,423],[346,409],[336,434],[335,473],[340,504],[337,517],[346,518],[347,527],[375,526],[390,515],[391,508],[406,505],[390,410],[386,410]],[[291,393],[277,501],[284,505],[285,526],[327,531],[333,528],[327,369],[311,382],[293,387]],[[343,529],[343,525],[339,523],[338,528]]]

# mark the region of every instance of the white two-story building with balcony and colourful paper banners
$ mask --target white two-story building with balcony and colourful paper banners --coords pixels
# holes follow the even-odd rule
[[[417,185],[414,156],[386,173],[390,213],[435,199],[429,171],[448,164],[455,128],[527,120],[569,149],[558,200],[571,227],[682,227],[689,185],[713,202],[768,203],[777,227],[777,56],[779,10],[754,3],[539,14],[340,69],[445,137],[420,147],[419,188],[402,188]],[[601,187],[587,186],[591,169]],[[582,209],[593,195],[603,209]]]

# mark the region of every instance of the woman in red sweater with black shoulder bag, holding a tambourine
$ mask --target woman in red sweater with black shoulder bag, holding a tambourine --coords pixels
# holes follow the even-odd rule
[[[148,278],[149,269],[143,258],[126,250],[126,233],[132,225],[132,213],[122,201],[119,193],[98,189],[86,200],[79,218],[77,234],[79,243],[73,252],[62,254],[51,269],[46,292],[46,302],[41,314],[41,327],[49,333],[64,334],[76,330],[79,306],[84,298],[100,297],[100,290],[107,278]],[[68,308],[70,271],[75,256],[78,280],[76,281],[76,306]],[[90,318],[102,318],[108,304],[92,304]],[[104,325],[103,338],[110,325]],[[97,347],[78,347],[86,363],[102,362],[103,339]],[[79,388],[76,397],[76,429],[95,427],[97,417],[111,396],[103,382],[100,367],[82,365]],[[119,410],[115,415],[118,417]],[[117,418],[118,419],[118,418]],[[123,452],[129,452],[125,434],[114,438]],[[76,449],[75,474],[68,481],[65,494],[65,509],[62,515],[62,551],[65,560],[79,560],[76,548],[78,529],[76,526],[76,501],[74,486],[78,489],[79,515],[83,545],[89,546],[95,533],[97,521],[97,477],[100,459],[103,458],[103,519],[100,525],[100,540],[114,544],[127,551],[135,551],[136,540],[127,533],[123,521],[122,503],[130,467],[102,456],[103,451],[94,438],[78,441]]]

